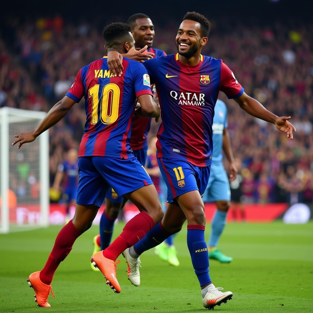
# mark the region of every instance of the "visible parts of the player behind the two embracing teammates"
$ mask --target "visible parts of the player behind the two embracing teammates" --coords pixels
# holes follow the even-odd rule
[[[153,53],[154,57],[167,55],[163,50],[152,48],[155,36],[154,25],[151,19],[142,13],[136,13],[127,20],[131,27],[131,33],[135,39],[135,47],[148,47],[147,52]],[[154,86],[153,86],[154,87]],[[152,87],[152,91],[155,88]],[[154,90],[153,90],[154,89]],[[150,130],[151,117],[135,116],[131,128],[130,146],[137,160],[145,166],[148,150],[148,132]],[[100,235],[94,237],[94,253],[104,250],[111,242],[114,222],[128,199],[116,193],[111,188],[105,197],[105,211],[100,219]],[[91,269],[97,270],[91,264]]]

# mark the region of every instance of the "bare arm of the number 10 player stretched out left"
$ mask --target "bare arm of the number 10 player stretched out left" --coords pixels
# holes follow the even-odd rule
[[[44,119],[32,131],[15,135],[14,137],[17,139],[12,143],[12,146],[19,142],[19,149],[24,143],[34,141],[41,133],[60,121],[69,112],[70,108],[74,104],[74,100],[72,100],[68,96],[64,96],[62,100],[56,103],[49,110]]]

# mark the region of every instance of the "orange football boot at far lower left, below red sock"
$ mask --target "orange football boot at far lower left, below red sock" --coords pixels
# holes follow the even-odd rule
[[[29,287],[33,287],[35,291],[35,302],[37,302],[38,306],[44,307],[44,308],[49,308],[51,305],[47,302],[49,293],[51,290],[52,298],[54,298],[54,294],[52,292],[51,285],[46,285],[44,284],[40,278],[39,274],[41,271],[34,272],[29,275],[28,277],[28,285]]]

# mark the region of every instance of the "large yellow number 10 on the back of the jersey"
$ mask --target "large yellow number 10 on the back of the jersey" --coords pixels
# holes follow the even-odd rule
[[[92,100],[91,124],[98,122],[99,84],[91,87],[89,98]],[[107,84],[102,89],[100,120],[103,124],[112,124],[118,118],[120,105],[120,88],[116,84]]]

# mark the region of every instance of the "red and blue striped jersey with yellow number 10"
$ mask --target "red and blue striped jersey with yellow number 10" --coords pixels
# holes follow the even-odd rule
[[[145,67],[123,59],[123,75],[114,77],[107,56],[80,69],[66,95],[79,102],[85,96],[86,124],[78,156],[127,159],[136,97],[152,95]]]

